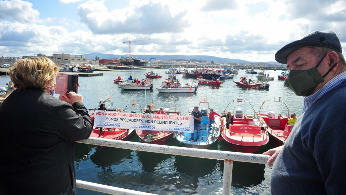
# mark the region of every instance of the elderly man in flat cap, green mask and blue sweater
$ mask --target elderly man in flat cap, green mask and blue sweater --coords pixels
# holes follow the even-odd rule
[[[272,155],[272,194],[344,194],[346,67],[338,37],[312,32],[275,60],[287,63],[287,86],[304,106],[285,144],[264,153]]]

